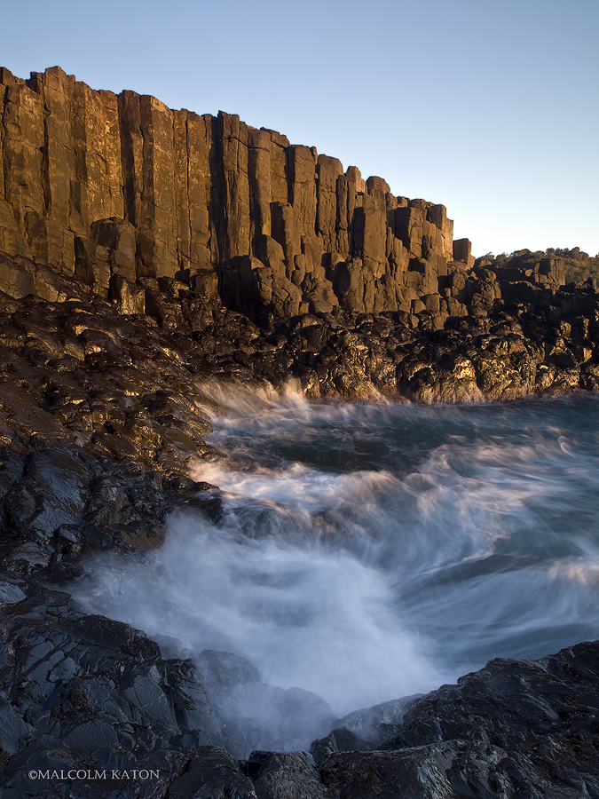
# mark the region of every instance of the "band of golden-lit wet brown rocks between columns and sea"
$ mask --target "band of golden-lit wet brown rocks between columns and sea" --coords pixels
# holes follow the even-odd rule
[[[461,285],[456,274],[463,278],[462,288],[455,288]],[[60,280],[67,287],[66,278]],[[114,279],[122,280],[120,276]],[[273,321],[272,328],[261,331],[239,312],[180,297],[191,290],[181,281],[140,281],[146,289],[137,285],[135,291],[143,289],[154,297],[152,312],[162,327],[153,327],[153,316],[131,313],[132,307],[124,313],[125,299],[118,297],[114,305],[96,299],[85,307],[73,298],[67,307],[58,303],[46,312],[43,303],[29,299],[19,312],[5,318],[7,362],[12,364],[12,375],[15,370],[17,375],[15,379],[4,372],[0,399],[4,418],[14,420],[21,440],[93,439],[111,455],[121,450],[151,461],[160,457],[169,468],[180,471],[185,452],[201,447],[197,410],[188,406],[183,415],[177,415],[165,409],[161,418],[153,420],[133,398],[142,386],[150,394],[153,388],[164,391],[166,380],[177,386],[177,392],[191,396],[193,379],[223,372],[241,379],[266,379],[274,385],[296,376],[304,390],[315,396],[357,398],[383,392],[426,402],[513,399],[594,385],[598,305],[595,288],[587,284],[583,289],[542,289],[547,294],[543,307],[502,305],[496,299],[484,315],[477,315],[472,305],[466,308],[471,316],[452,316],[450,312],[457,311],[448,306],[443,327],[436,325],[435,310],[422,310],[415,316],[389,311],[360,314],[335,307],[330,312]],[[453,274],[452,281],[458,294],[466,292],[467,303],[482,297],[483,283],[507,285],[504,280],[481,282],[463,273]],[[176,284],[185,288],[176,289]],[[475,284],[478,288],[468,294]],[[134,285],[127,290],[132,291]],[[67,296],[67,288],[64,292]],[[437,307],[437,295],[423,297],[431,308]],[[442,305],[445,299],[439,302]],[[303,324],[303,319],[312,321]],[[193,338],[187,323],[194,330]],[[36,399],[39,381],[33,385],[29,377],[23,380],[23,373],[33,364],[46,370],[49,383],[56,382],[58,374],[70,372],[75,377],[66,393],[46,390],[43,414]],[[113,392],[120,384],[121,399],[106,402],[101,392],[88,395],[85,383],[100,382],[100,374],[102,381],[110,381]],[[174,396],[172,389],[169,392]],[[161,429],[165,423],[168,430]]]

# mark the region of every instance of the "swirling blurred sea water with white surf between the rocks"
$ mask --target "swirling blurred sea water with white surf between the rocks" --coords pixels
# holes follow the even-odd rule
[[[198,401],[223,457],[190,471],[222,518],[177,510],[162,549],[97,558],[91,612],[238,654],[338,716],[599,637],[597,395]]]

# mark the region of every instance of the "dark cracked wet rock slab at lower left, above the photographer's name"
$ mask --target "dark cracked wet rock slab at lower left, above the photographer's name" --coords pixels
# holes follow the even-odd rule
[[[14,655],[0,668],[2,746],[8,755],[23,748],[18,762],[52,747],[79,763],[91,753],[106,763],[115,752],[143,757],[173,742],[183,751],[185,736],[216,743],[220,723],[200,673],[189,661],[163,660],[138,630],[83,616],[48,590],[5,605],[3,630],[3,652]]]

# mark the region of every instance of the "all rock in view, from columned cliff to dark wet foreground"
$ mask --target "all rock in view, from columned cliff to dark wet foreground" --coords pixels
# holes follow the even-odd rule
[[[65,590],[93,552],[160,546],[170,513],[217,521],[217,487],[187,465],[222,457],[196,402],[207,385],[594,390],[595,281],[564,285],[539,253],[475,262],[444,206],[233,115],[92,91],[58,67],[0,69],[0,96],[3,796],[599,797],[596,644],[336,720],[263,685],[272,732],[222,701],[259,682],[248,661],[171,657]],[[270,751],[294,748],[308,712],[311,755]]]

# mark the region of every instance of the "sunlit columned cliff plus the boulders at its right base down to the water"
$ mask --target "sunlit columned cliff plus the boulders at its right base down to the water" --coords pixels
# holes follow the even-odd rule
[[[564,286],[559,258],[475,263],[443,205],[234,115],[92,91],[59,67],[0,81],[6,295],[56,302],[67,280],[212,362],[317,395],[597,385],[595,283]]]

